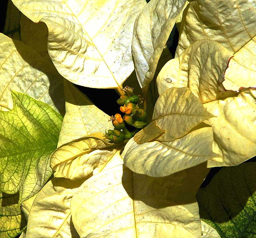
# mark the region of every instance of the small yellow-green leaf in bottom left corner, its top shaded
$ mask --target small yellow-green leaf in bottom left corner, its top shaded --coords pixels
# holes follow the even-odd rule
[[[26,227],[18,200],[19,194],[0,192],[0,238],[15,237]]]

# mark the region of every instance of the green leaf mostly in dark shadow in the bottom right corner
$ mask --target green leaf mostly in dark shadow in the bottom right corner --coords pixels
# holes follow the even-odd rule
[[[222,168],[196,197],[200,217],[222,238],[255,238],[256,163]]]

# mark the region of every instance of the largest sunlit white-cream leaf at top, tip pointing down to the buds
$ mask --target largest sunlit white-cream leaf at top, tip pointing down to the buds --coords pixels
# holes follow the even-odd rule
[[[134,70],[132,29],[144,0],[13,2],[32,21],[46,23],[48,51],[62,76],[92,88],[122,88]]]

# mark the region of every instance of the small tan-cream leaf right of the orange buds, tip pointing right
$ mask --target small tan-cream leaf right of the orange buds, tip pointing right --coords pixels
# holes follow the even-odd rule
[[[165,131],[157,140],[171,142],[186,135],[192,128],[210,117],[212,114],[204,109],[200,100],[189,88],[170,88],[159,96],[152,122],[148,127],[153,129],[154,123]],[[146,130],[148,129],[145,128],[141,133]],[[147,134],[140,136],[140,139],[136,136],[136,141],[139,144],[147,142]]]

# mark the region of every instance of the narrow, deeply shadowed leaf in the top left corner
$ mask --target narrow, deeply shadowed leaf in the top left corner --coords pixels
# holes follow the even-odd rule
[[[3,33],[15,40],[21,40],[20,36],[20,18],[22,13],[12,3],[12,0],[8,0],[6,18],[4,24]]]

